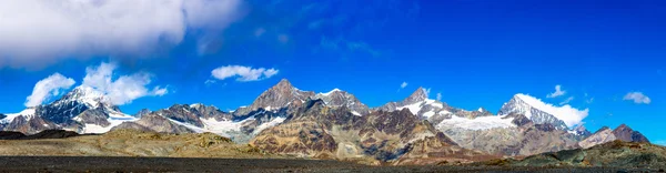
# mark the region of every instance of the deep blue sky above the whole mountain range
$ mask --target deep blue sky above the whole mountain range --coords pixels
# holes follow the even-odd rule
[[[113,79],[148,73],[149,92],[169,90],[131,99],[121,105],[128,113],[195,102],[233,110],[289,79],[302,90],[340,88],[370,106],[402,100],[418,86],[453,106],[492,112],[516,93],[556,105],[573,96],[568,104],[589,109],[583,122],[593,132],[626,123],[653,142],[666,142],[663,1],[228,1],[238,4],[202,18],[208,21],[189,19],[183,34],[147,27],[118,38],[99,34],[95,39],[110,40],[102,42],[108,47],[71,49],[37,39],[40,47],[26,47],[44,50],[39,58],[13,51],[13,44],[33,43],[21,37],[0,41],[0,50],[9,52],[0,53],[0,112],[24,109],[36,83],[56,72],[75,86],[88,67],[111,63],[118,67]],[[17,39],[16,32],[1,32],[0,40]],[[141,44],[132,44],[135,37],[143,37]],[[50,48],[64,51],[46,51]],[[226,65],[278,73],[254,81],[211,74]],[[547,98],[555,85],[565,94]],[[625,100],[630,92],[649,103]]]

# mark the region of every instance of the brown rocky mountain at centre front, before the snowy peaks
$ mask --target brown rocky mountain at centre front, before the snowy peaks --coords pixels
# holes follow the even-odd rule
[[[412,163],[428,154],[446,152],[484,155],[457,146],[407,109],[375,111],[363,116],[351,112],[346,106],[327,106],[322,100],[311,100],[284,123],[259,133],[251,144],[268,152],[371,164],[397,160]],[[416,152],[413,144],[418,141],[432,147],[410,154]]]

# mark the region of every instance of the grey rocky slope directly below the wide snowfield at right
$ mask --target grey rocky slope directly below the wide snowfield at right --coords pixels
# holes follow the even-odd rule
[[[578,135],[558,130],[552,124],[536,124],[525,115],[515,113],[490,118],[495,120],[488,121],[504,121],[511,125],[471,129],[460,122],[448,124],[444,121],[437,128],[463,147],[494,154],[532,155],[577,147]]]

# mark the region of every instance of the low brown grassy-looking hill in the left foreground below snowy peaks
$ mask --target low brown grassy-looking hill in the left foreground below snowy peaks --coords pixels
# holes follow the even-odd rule
[[[282,157],[266,154],[246,144],[235,144],[228,138],[212,133],[164,134],[115,130],[102,135],[64,138],[63,134],[68,133],[58,133],[50,138],[49,135],[33,138],[40,140],[0,140],[0,155]]]

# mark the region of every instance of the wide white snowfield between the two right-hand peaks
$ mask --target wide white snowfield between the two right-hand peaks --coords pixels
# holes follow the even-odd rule
[[[437,126],[456,126],[466,130],[488,130],[495,128],[513,128],[516,126],[512,123],[513,118],[502,119],[506,115],[495,116],[481,116],[476,119],[467,119],[460,116],[452,116],[451,119],[442,121]],[[438,128],[440,129],[440,128]]]

